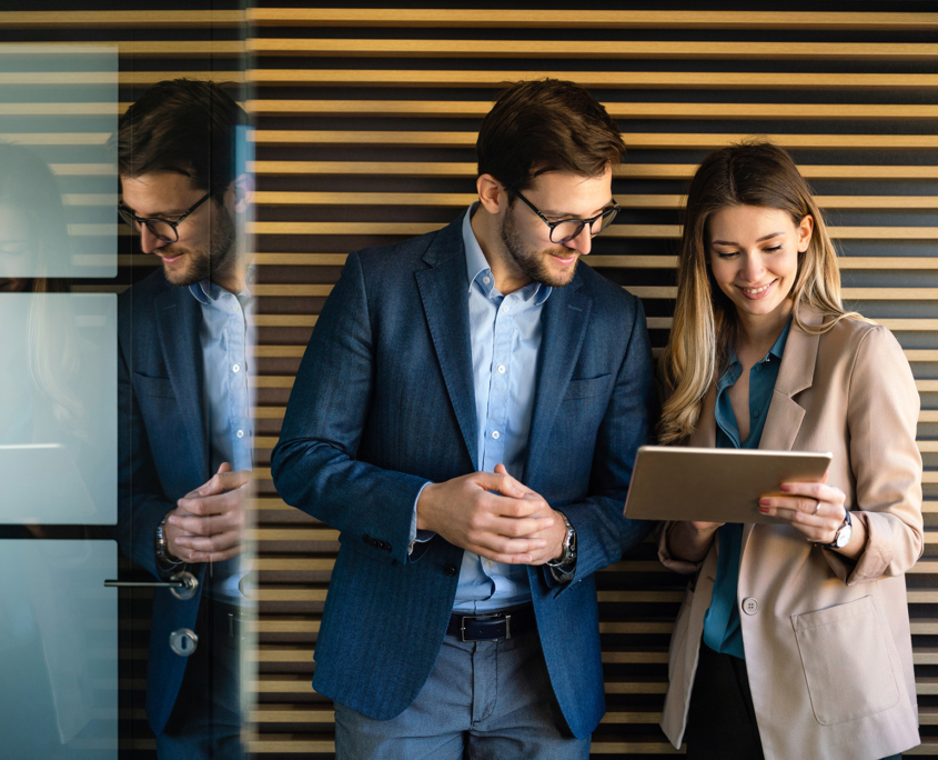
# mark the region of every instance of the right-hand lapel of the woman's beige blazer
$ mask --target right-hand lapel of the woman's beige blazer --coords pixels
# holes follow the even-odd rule
[[[814,309],[804,307],[799,310],[801,321],[808,327],[817,327],[824,322],[824,316]],[[794,324],[788,333],[781,367],[778,368],[778,379],[768,407],[763,437],[759,448],[768,451],[790,451],[801,429],[805,409],[794,397],[814,382],[817,349],[820,336],[803,332]],[[743,528],[743,551],[755,523],[746,523]],[[742,557],[742,552],[740,552]]]

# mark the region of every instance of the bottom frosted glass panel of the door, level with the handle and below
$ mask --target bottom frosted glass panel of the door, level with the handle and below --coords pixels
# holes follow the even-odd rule
[[[0,540],[4,760],[117,760],[117,561],[111,541]]]

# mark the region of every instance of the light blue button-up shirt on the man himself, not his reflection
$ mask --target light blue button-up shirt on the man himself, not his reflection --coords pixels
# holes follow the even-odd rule
[[[495,288],[492,269],[472,230],[477,207],[478,201],[463,218],[477,461],[483,472],[494,472],[502,463],[508,474],[524,482],[541,351],[541,313],[552,289],[532,282],[504,296]],[[430,531],[416,530],[416,503],[411,537],[417,541],[433,537]],[[486,612],[529,601],[526,566],[494,562],[471,551],[463,554],[455,612]]]

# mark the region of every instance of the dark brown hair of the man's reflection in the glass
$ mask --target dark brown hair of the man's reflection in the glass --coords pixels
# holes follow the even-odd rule
[[[236,128],[248,114],[214,82],[190,79],[151,87],[118,122],[111,147],[121,177],[173,171],[200,190],[238,176]]]

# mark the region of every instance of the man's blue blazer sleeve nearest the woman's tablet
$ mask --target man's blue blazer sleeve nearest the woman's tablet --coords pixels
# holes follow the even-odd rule
[[[596,436],[589,494],[562,508],[576,529],[576,570],[569,581],[617,562],[623,552],[641,543],[654,528],[652,521],[629,520],[623,510],[635,454],[639,446],[650,441],[656,421],[652,348],[645,312],[636,300],[625,357]],[[556,587],[551,573],[546,569],[545,572],[548,586]]]

